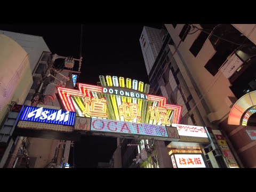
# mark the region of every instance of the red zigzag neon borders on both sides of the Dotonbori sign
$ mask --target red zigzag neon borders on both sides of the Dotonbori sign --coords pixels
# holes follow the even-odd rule
[[[57,91],[60,95],[60,99],[67,111],[74,111],[74,112],[76,111],[73,105],[73,102],[71,101],[71,95],[77,96],[77,97],[91,97],[90,91],[102,93],[101,86],[88,85],[83,83],[77,83],[77,85],[78,85],[78,90],[68,89],[65,87],[57,87]],[[157,101],[158,107],[165,107],[166,109],[173,110],[172,123],[179,124],[180,118],[181,118],[182,106],[166,104],[166,98],[164,97],[159,97],[159,96],[150,95],[150,94],[148,94],[147,96],[148,96],[148,100]]]

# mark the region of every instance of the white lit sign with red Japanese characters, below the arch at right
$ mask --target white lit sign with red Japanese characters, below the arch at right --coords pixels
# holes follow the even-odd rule
[[[174,158],[178,168],[205,168],[204,160],[200,154],[175,154]]]

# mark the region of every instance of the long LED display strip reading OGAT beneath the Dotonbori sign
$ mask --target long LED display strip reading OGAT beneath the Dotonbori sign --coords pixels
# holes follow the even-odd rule
[[[91,131],[168,137],[165,126],[92,118]]]

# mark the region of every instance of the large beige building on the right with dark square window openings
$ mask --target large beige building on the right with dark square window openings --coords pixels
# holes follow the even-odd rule
[[[167,92],[166,96],[173,103],[185,103],[182,106],[186,106],[187,111],[182,113],[181,124],[187,121],[187,117],[194,115],[194,120],[191,119],[193,124],[221,130],[240,167],[255,167],[256,146],[246,133],[246,130],[255,128],[243,126],[242,117],[255,106],[253,91],[256,75],[253,55],[256,53],[256,25],[166,24],[165,27],[173,43],[168,45],[171,61],[167,63],[167,68],[170,69],[157,75],[161,93],[166,95]],[[172,92],[175,91],[175,86],[168,86],[172,85],[173,79],[180,82],[180,85],[177,80],[175,82],[179,91],[174,97]],[[150,81],[153,81],[153,77],[150,77]],[[244,95],[248,96],[250,93],[252,101],[246,102]],[[237,100],[243,103],[238,103]],[[233,116],[237,115],[233,113],[230,116],[230,110],[234,112],[237,106],[242,106],[239,112],[242,114],[238,120],[241,122],[228,125],[232,124]],[[253,119],[253,116],[249,118],[251,125]],[[191,121],[188,118],[188,124]]]

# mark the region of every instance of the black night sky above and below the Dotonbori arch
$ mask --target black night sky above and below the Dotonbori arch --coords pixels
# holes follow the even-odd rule
[[[82,67],[78,82],[97,85],[99,75],[122,76],[149,83],[139,38],[143,26],[161,28],[157,23],[84,24]],[[80,24],[0,25],[1,30],[38,35],[51,52],[79,58]],[[84,137],[75,143],[76,167],[97,167],[109,162],[117,146],[116,138]],[[73,151],[70,151],[70,160]]]

